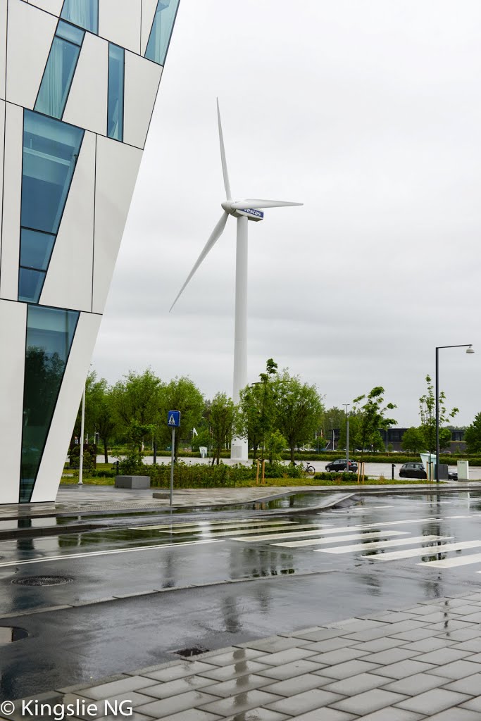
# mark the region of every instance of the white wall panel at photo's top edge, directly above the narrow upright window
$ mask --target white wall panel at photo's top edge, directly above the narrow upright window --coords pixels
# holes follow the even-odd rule
[[[121,48],[141,51],[141,0],[101,0],[99,35]]]

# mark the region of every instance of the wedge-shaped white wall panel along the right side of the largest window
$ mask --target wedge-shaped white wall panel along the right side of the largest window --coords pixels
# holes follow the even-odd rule
[[[40,305],[92,310],[95,136],[85,133]]]

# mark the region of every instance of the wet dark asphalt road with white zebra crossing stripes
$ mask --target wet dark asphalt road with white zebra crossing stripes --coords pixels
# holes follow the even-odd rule
[[[0,645],[0,699],[173,660],[185,647],[211,650],[481,585],[481,492],[402,492],[317,514],[223,513],[209,522],[204,513],[166,524],[136,516],[123,528],[0,543],[0,625],[30,633]],[[71,582],[12,583],[37,575]]]

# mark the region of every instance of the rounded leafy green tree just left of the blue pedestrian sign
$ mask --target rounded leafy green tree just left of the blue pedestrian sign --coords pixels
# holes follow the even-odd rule
[[[129,371],[123,377],[110,394],[113,418],[140,454],[144,437],[151,435],[151,431],[155,433],[160,426],[164,386],[151,368],[144,373]]]

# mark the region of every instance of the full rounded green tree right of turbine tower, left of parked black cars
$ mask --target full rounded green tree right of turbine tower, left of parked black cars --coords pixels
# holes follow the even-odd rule
[[[294,451],[298,443],[311,438],[319,427],[323,410],[316,386],[301,383],[299,376],[290,376],[287,369],[275,376],[274,426],[286,438],[291,450],[291,463],[294,464]]]

